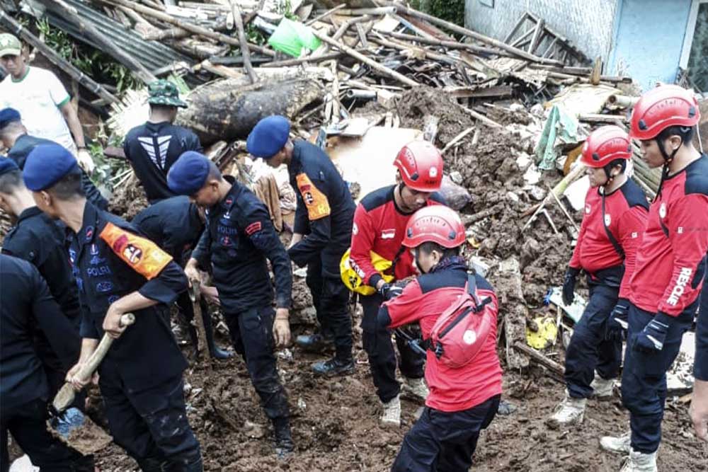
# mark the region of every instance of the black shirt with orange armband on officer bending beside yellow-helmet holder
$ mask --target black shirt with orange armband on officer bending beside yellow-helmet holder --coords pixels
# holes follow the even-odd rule
[[[356,205],[349,187],[329,156],[307,141],[295,141],[287,166],[296,190],[295,232],[307,234],[288,250],[297,265],[321,254],[326,275],[339,277],[339,263],[349,247]]]

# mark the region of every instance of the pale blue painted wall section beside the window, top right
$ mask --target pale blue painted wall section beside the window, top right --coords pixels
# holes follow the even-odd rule
[[[691,0],[620,0],[605,73],[624,74],[643,90],[678,73]]]

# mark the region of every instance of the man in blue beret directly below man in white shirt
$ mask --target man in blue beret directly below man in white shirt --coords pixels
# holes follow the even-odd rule
[[[5,146],[8,158],[15,161],[22,170],[25,167],[25,159],[35,146],[39,144],[54,144],[49,139],[30,136],[27,128],[22,124],[20,112],[14,108],[4,108],[0,110],[0,141]],[[100,209],[108,208],[108,200],[103,198],[96,185],[93,185],[89,175],[81,169],[81,187],[84,188],[86,200],[96,205]]]

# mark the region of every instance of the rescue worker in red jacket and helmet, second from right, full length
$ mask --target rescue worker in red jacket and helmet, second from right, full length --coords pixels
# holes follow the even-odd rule
[[[559,425],[581,423],[590,396],[612,396],[622,363],[620,326],[613,323],[607,330],[607,321],[613,309],[627,313],[629,278],[649,210],[644,192],[624,173],[631,157],[629,135],[617,126],[595,129],[583,146],[581,162],[587,166],[590,189],[563,301],[573,303],[581,270],[587,275],[590,301],[566,350],[566,397],[550,418]]]

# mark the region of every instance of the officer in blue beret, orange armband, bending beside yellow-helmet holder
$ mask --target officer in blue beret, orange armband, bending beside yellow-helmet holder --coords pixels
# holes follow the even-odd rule
[[[263,118],[249,134],[249,153],[269,166],[287,165],[296,190],[295,231],[287,253],[299,266],[307,265],[307,287],[321,333],[299,336],[298,345],[316,350],[333,342],[333,359],[316,362],[315,374],[354,372],[352,324],[347,309],[349,291],[341,281],[339,264],[349,248],[355,205],[348,185],[329,156],[307,141],[290,140],[290,122],[273,115]]]

